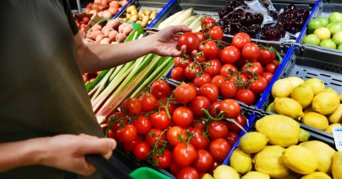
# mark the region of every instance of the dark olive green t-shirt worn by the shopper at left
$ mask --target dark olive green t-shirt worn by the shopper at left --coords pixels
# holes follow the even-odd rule
[[[77,65],[79,28],[67,0],[1,0],[0,6],[0,142],[58,134],[103,137]],[[11,179],[64,176],[45,166],[0,173]]]

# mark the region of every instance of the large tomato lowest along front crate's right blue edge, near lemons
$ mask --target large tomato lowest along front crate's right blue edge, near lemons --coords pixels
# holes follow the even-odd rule
[[[213,140],[209,145],[209,152],[213,156],[214,160],[223,162],[226,159],[231,145],[223,138]]]

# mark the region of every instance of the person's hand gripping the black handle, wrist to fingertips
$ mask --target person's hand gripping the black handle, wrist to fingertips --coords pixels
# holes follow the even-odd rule
[[[86,161],[85,154],[102,154],[106,159],[112,155],[116,142],[111,138],[98,138],[86,134],[57,135],[48,138],[41,164],[80,175],[89,176],[96,170]]]

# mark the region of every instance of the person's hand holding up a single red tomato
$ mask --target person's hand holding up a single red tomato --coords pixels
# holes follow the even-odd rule
[[[194,50],[190,54],[186,54],[186,46],[178,46],[178,35],[179,32],[191,32],[192,29],[185,25],[170,26],[159,32],[155,33],[152,41],[152,51],[159,56],[170,56],[170,57],[183,57],[186,59],[192,59],[196,57],[197,51]],[[200,45],[199,51],[203,49],[203,45]]]

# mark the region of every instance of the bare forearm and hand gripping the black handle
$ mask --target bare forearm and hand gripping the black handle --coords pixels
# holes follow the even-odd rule
[[[19,166],[45,165],[91,175],[96,169],[86,161],[84,155],[102,154],[109,159],[115,147],[114,139],[99,139],[85,134],[0,143],[0,173]]]

